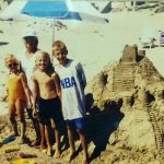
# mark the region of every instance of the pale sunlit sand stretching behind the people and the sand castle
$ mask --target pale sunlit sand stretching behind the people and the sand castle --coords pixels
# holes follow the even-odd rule
[[[112,12],[104,14],[109,20],[109,23],[106,24],[87,21],[62,21],[67,30],[56,27],[55,39],[61,39],[68,45],[70,57],[84,65],[87,81],[91,81],[107,62],[119,59],[125,45],[137,44],[140,46],[139,37],[144,28],[153,27],[156,34],[159,30],[163,30],[163,22],[159,21],[163,20],[163,13],[155,15],[151,15],[151,13],[150,10]],[[32,22],[1,21],[0,39],[2,43],[9,43],[1,45],[1,58],[11,51],[16,54],[23,48],[21,36],[27,28],[34,28],[37,32],[38,47],[51,54],[52,22],[49,20],[44,20],[44,22],[45,24],[35,19]],[[163,47],[145,49],[147,56],[162,74],[164,74],[161,63],[163,49]],[[3,63],[3,60],[1,62]]]

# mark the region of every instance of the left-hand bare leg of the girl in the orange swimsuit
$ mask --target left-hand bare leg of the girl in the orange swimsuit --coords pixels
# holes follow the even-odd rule
[[[13,128],[14,136],[19,136],[17,122],[15,120],[15,112],[16,112],[15,105],[9,104],[9,119]]]

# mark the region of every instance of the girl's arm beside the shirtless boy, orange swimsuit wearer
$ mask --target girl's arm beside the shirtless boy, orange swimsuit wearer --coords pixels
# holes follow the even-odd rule
[[[23,84],[23,89],[25,91],[25,94],[26,94],[26,97],[28,101],[28,107],[31,108],[32,107],[31,91],[30,91],[30,87],[27,85],[26,75],[24,73],[21,73],[20,77],[21,77],[21,82]]]

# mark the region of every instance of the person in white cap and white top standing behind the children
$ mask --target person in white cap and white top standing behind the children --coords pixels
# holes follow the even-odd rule
[[[31,77],[32,73],[37,69],[35,65],[36,60],[36,54],[39,50],[38,49],[38,37],[36,35],[36,32],[33,28],[27,28],[25,34],[23,35],[23,44],[24,48],[21,49],[17,52],[17,57],[22,63],[22,68],[26,74],[27,78],[27,84],[30,86],[30,90],[33,90]],[[31,93],[32,94],[32,93]],[[31,95],[32,97],[32,95]],[[31,147],[39,145],[40,143],[40,133],[39,133],[39,124],[37,121],[37,118],[33,117],[33,109],[26,108],[28,118],[32,120],[32,124],[34,126],[34,130],[36,133],[36,139],[31,142]]]

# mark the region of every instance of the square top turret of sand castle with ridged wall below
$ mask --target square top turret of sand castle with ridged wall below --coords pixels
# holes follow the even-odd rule
[[[134,87],[137,47],[126,46],[120,62],[114,68],[113,92],[131,91]]]

